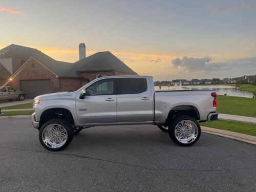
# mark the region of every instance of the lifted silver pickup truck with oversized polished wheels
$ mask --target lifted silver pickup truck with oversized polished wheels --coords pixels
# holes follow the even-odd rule
[[[101,125],[154,124],[178,145],[197,142],[198,121],[217,120],[217,94],[203,91],[155,91],[151,76],[97,78],[77,91],[34,98],[32,124],[42,146],[67,147],[82,129]]]

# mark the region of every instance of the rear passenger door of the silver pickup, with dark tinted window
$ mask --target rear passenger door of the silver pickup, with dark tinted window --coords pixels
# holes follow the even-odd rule
[[[153,122],[150,81],[145,77],[117,79],[117,122]]]

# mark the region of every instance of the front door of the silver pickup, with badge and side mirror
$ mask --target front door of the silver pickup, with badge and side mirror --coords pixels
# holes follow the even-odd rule
[[[99,80],[86,88],[86,96],[76,99],[76,113],[79,124],[115,123],[116,80]]]

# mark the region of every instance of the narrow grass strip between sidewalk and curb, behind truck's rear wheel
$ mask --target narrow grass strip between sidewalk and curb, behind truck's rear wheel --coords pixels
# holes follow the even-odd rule
[[[200,123],[200,125],[208,126],[208,127],[212,127],[220,130],[227,130],[231,132],[237,132],[237,133],[256,136],[256,124],[217,120],[217,121]]]

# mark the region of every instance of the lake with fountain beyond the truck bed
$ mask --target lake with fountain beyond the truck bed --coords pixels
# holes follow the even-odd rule
[[[155,86],[155,90],[159,91],[159,87]],[[167,86],[162,86],[161,91],[167,91]],[[237,96],[237,97],[248,97],[252,98],[253,93],[248,91],[238,90],[236,87],[232,86],[218,86],[218,85],[210,85],[210,86],[170,86],[169,90],[216,90],[217,94],[228,96]]]

